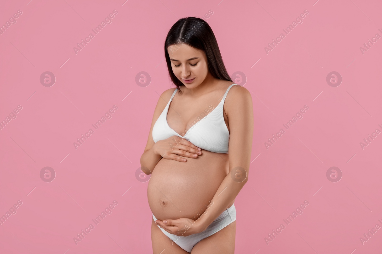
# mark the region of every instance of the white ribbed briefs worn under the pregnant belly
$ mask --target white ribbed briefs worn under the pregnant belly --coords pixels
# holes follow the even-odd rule
[[[157,220],[155,218],[154,214],[152,215],[154,221]],[[171,240],[173,240],[176,244],[180,246],[180,248],[184,249],[187,252],[191,252],[192,248],[194,248],[194,245],[197,244],[199,241],[203,240],[204,238],[213,235],[214,233],[218,232],[224,227],[227,227],[232,222],[236,220],[236,208],[235,203],[232,204],[230,208],[227,208],[222,214],[219,215],[219,217],[216,218],[208,227],[206,230],[204,230],[201,233],[192,234],[188,236],[178,236],[168,233],[163,228],[159,227],[162,232],[168,236]]]

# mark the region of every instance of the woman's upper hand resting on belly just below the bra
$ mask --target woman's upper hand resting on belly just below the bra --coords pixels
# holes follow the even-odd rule
[[[198,155],[202,154],[199,147],[196,147],[196,145],[187,141],[187,139],[176,135],[171,136],[168,139],[157,141],[154,144],[153,149],[156,154],[159,154],[165,159],[181,162],[186,162],[186,159],[180,156],[197,158]]]

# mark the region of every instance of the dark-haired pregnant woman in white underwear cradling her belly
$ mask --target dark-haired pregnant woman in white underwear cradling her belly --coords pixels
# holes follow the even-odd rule
[[[153,253],[234,253],[234,201],[252,149],[251,94],[231,81],[202,19],[179,19],[164,50],[176,88],[160,95],[141,156],[151,174]]]

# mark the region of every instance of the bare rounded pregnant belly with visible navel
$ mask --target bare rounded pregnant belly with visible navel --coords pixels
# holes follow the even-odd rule
[[[227,153],[202,150],[198,158],[186,159],[162,158],[151,174],[147,199],[158,220],[197,219],[228,174]]]

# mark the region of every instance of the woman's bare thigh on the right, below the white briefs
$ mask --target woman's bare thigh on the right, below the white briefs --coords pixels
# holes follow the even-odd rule
[[[235,253],[236,220],[195,244],[191,254],[233,254]]]

